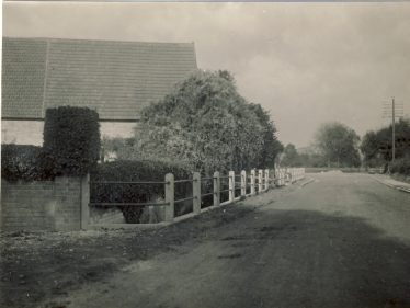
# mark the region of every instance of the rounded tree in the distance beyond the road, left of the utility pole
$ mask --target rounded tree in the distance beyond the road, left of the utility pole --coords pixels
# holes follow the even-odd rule
[[[352,128],[338,122],[323,124],[316,134],[316,145],[329,167],[358,167],[358,141]]]

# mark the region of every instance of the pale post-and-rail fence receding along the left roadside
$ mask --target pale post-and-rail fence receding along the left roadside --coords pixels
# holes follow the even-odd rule
[[[273,175],[273,178],[270,176]],[[200,214],[204,208],[201,207],[202,198],[205,196],[213,196],[213,204],[209,207],[215,207],[221,204],[234,203],[247,196],[255,195],[257,193],[265,192],[270,186],[282,186],[294,183],[305,176],[305,168],[276,168],[269,169],[252,169],[250,172],[241,171],[239,174],[229,171],[228,175],[220,175],[215,172],[213,176],[201,178],[198,172],[193,173],[192,179],[174,180],[172,173],[168,173],[164,181],[141,181],[141,182],[122,182],[122,181],[92,181],[90,184],[162,184],[164,185],[164,201],[161,202],[146,202],[146,203],[89,203],[89,206],[163,206],[164,217],[167,221],[173,221],[175,218],[175,204],[192,201],[192,213]],[[240,181],[238,181],[240,179]],[[202,182],[212,180],[212,191],[202,192]],[[221,181],[228,180],[228,181]],[[175,199],[175,184],[192,183],[192,196]],[[236,192],[240,191],[240,195]],[[228,199],[221,202],[221,194],[228,195]],[[237,196],[236,196],[237,195]],[[191,214],[191,213],[189,213]]]

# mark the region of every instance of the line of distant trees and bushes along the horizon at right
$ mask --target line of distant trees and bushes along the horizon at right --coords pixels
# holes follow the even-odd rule
[[[410,119],[401,118],[395,125],[397,161],[410,161]],[[367,132],[363,138],[341,123],[323,124],[308,149],[286,145],[281,163],[289,167],[384,167],[392,159],[392,126]]]

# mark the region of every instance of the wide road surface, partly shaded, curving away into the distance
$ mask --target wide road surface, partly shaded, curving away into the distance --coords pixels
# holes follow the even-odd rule
[[[315,181],[60,298],[68,307],[410,307],[410,194]],[[244,205],[252,206],[252,198]]]

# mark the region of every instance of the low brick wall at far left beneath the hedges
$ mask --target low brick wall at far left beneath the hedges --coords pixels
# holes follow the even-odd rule
[[[71,231],[81,229],[80,178],[55,181],[1,181],[1,230]]]

